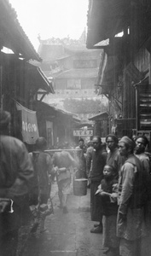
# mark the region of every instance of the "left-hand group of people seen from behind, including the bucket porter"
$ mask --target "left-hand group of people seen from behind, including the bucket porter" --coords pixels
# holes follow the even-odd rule
[[[67,213],[67,195],[70,193],[71,172],[76,168],[84,176],[84,155],[75,159],[65,150],[50,155],[47,142],[38,137],[35,148],[28,153],[20,140],[10,136],[11,115],[0,110],[0,255],[15,256],[21,225],[33,218],[32,232],[44,232],[44,221],[53,212],[49,207],[51,182],[56,177],[60,207]],[[62,148],[66,148],[63,145]],[[81,160],[81,157],[83,158]],[[80,174],[81,173],[81,174]],[[51,205],[52,206],[52,205]]]

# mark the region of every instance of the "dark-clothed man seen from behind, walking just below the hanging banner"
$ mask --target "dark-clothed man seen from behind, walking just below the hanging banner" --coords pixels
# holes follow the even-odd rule
[[[32,204],[38,204],[40,232],[43,233],[46,230],[44,228],[44,221],[48,212],[48,200],[51,190],[49,176],[54,174],[55,171],[50,155],[44,152],[44,150],[47,149],[46,139],[44,137],[38,137],[35,146],[37,151],[29,153],[35,174],[33,178],[33,189],[31,191],[31,202]],[[41,210],[43,207],[46,208],[46,210],[43,210],[42,214]]]

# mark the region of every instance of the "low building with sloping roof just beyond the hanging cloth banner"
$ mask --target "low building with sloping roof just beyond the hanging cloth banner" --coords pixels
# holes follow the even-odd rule
[[[73,143],[73,127],[79,121],[73,113],[40,101],[33,102],[33,109],[37,110],[39,136],[47,138],[48,148]]]

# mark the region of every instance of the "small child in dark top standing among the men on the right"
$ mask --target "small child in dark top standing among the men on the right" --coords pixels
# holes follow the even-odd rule
[[[112,256],[119,255],[119,238],[116,236],[116,221],[118,213],[116,185],[113,166],[104,166],[104,178],[99,190],[96,192],[102,196],[102,224],[103,224],[103,247],[107,247]]]

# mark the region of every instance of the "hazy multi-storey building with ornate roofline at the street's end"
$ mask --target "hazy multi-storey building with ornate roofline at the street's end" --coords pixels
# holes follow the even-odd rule
[[[102,49],[88,50],[85,44],[73,40],[39,41],[38,54],[43,59],[41,68],[53,81],[55,89],[55,95],[45,96],[44,101],[63,106],[67,98],[96,100],[94,85],[97,83]]]

